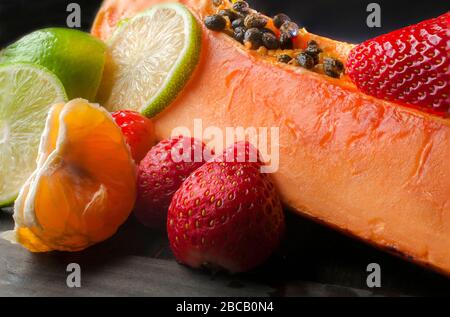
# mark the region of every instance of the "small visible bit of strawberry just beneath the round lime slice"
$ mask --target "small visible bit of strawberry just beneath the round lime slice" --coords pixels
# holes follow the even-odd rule
[[[134,161],[139,164],[155,144],[153,122],[141,114],[129,110],[114,112],[112,116],[122,129]]]

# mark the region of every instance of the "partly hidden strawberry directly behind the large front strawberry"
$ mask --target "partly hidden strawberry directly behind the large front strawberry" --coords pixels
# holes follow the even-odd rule
[[[146,226],[165,228],[172,196],[193,171],[202,166],[205,145],[176,137],[154,146],[139,164],[135,215]]]

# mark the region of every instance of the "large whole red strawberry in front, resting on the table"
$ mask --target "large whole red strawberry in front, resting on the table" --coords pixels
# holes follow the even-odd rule
[[[206,163],[175,193],[167,219],[179,262],[232,273],[264,262],[284,228],[277,192],[255,163]]]

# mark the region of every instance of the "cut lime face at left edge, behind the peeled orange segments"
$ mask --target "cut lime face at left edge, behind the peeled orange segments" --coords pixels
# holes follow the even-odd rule
[[[66,99],[62,83],[45,68],[0,66],[0,207],[14,201],[33,173],[47,112]]]

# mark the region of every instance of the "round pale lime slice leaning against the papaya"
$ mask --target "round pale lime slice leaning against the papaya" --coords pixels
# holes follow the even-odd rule
[[[153,117],[189,80],[200,57],[201,28],[183,5],[156,5],[122,21],[108,46],[99,101],[110,111]]]

